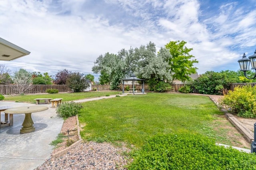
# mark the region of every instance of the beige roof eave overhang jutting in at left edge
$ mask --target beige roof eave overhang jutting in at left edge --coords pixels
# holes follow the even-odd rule
[[[26,49],[0,38],[0,60],[10,61],[28,54]]]

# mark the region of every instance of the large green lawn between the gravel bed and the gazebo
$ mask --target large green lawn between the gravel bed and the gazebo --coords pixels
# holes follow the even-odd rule
[[[98,142],[123,141],[140,147],[155,134],[198,132],[230,144],[214,131],[216,115],[223,115],[205,96],[148,93],[82,103],[82,138]],[[218,138],[222,136],[222,138]]]

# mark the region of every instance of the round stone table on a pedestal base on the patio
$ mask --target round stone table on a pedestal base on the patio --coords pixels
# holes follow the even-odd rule
[[[8,114],[25,114],[25,119],[22,123],[22,128],[20,129],[20,133],[29,133],[33,132],[35,127],[33,126],[34,122],[31,117],[31,113],[40,112],[47,110],[46,106],[23,106],[23,107],[14,107],[11,109],[7,109],[4,113]]]

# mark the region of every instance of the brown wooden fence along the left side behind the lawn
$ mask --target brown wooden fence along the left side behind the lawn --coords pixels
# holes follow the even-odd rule
[[[0,94],[2,95],[11,95],[15,94],[16,91],[14,89],[13,84],[9,85],[0,85]],[[72,91],[66,85],[32,85],[32,87],[24,92],[24,94],[32,94],[32,93],[45,93],[47,89],[58,89],[59,92],[70,92]]]

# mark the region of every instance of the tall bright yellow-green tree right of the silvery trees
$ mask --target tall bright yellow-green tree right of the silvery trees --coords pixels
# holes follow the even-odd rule
[[[197,68],[194,63],[198,63],[194,56],[189,54],[193,48],[187,48],[184,41],[171,41],[165,45],[165,48],[170,51],[172,57],[166,58],[170,65],[170,73],[172,81],[178,79],[180,81],[190,80],[189,75],[196,73]]]

